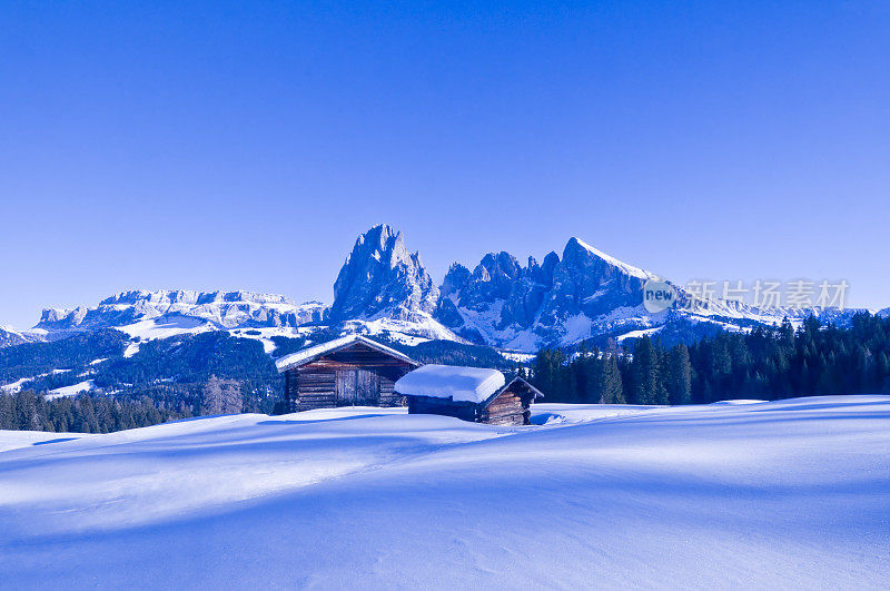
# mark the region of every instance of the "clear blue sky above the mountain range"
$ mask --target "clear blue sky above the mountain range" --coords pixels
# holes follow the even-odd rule
[[[890,305],[884,1],[9,0],[0,30],[0,324],[138,287],[329,302],[380,221],[437,282],[578,236]]]

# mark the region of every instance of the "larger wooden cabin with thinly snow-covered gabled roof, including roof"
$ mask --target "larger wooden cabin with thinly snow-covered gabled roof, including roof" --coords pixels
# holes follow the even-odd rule
[[[398,406],[396,381],[421,364],[362,335],[335,338],[285,355],[276,362],[285,374],[289,412],[336,406]]]

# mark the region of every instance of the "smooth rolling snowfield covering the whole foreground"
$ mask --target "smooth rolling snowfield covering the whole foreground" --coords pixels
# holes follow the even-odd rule
[[[0,587],[890,580],[889,396],[534,415],[546,424],[345,408],[0,432]]]

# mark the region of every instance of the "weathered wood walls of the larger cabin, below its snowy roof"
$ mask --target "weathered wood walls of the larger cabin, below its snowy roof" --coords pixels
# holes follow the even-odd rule
[[[399,406],[395,382],[414,365],[362,343],[354,343],[285,372],[291,412],[336,406]]]

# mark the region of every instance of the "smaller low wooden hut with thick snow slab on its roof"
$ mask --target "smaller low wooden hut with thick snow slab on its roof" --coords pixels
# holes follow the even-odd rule
[[[531,424],[531,404],[544,395],[522,377],[505,384],[496,370],[424,365],[396,382],[408,414],[441,414],[492,425]]]

